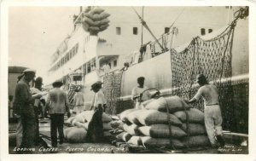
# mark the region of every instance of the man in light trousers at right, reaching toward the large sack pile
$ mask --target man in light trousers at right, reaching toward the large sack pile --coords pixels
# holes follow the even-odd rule
[[[205,125],[207,129],[208,138],[212,144],[212,147],[224,147],[224,139],[222,134],[222,116],[220,106],[218,104],[218,89],[215,85],[209,84],[207,78],[203,74],[199,74],[196,77],[196,83],[199,83],[200,89],[198,89],[195,96],[187,103],[194,103],[201,97],[205,104]],[[215,140],[215,134],[217,141]]]

